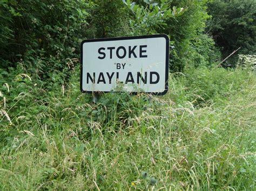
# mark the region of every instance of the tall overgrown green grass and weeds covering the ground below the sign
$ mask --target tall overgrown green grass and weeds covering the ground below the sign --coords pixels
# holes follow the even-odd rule
[[[165,96],[97,104],[78,80],[6,81],[1,190],[255,189],[255,73],[191,69],[170,75]]]

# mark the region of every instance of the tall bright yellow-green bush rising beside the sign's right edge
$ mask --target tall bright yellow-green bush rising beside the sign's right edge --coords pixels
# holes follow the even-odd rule
[[[213,65],[218,60],[218,51],[211,37],[204,34],[206,19],[210,17],[206,1],[172,1],[171,6],[184,10],[183,15],[169,18],[166,27],[158,31],[170,34],[171,70],[180,72],[185,66]]]

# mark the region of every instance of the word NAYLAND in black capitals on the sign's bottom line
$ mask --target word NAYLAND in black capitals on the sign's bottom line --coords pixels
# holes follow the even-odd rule
[[[113,78],[114,77],[114,78]],[[99,72],[99,73],[95,73],[93,72],[93,74],[91,75],[90,73],[86,73],[86,83],[112,83],[112,79],[116,79],[118,83],[140,83],[143,82],[144,84],[156,84],[159,82],[160,80],[160,75],[157,72],[149,72],[149,75],[147,75],[147,72],[144,72],[144,76],[142,76],[142,73],[137,72],[137,74],[132,74],[132,72],[128,72],[126,77],[125,77],[125,81],[122,82],[119,80],[119,72]],[[135,79],[135,80],[134,80]],[[135,82],[136,81],[136,82]]]

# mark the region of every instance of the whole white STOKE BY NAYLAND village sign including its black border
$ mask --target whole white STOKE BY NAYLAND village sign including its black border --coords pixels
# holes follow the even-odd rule
[[[169,38],[165,34],[84,40],[82,92],[129,91],[164,95],[168,89]]]

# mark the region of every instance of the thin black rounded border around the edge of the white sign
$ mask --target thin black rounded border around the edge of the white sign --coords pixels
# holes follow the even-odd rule
[[[166,40],[166,55],[165,55],[165,90],[162,92],[142,92],[152,95],[165,95],[168,91],[168,77],[169,77],[169,37],[166,34],[151,34],[145,36],[135,36],[135,37],[117,37],[117,38],[99,38],[99,39],[86,39],[83,40],[80,44],[80,90],[82,93],[109,93],[110,91],[84,91],[83,90],[83,44],[91,42],[100,42],[100,41],[114,41],[114,40],[132,40],[132,39],[145,39],[145,38],[165,38]],[[123,92],[123,91],[114,91],[114,92]],[[139,92],[132,91],[130,92],[133,95],[137,95]]]

